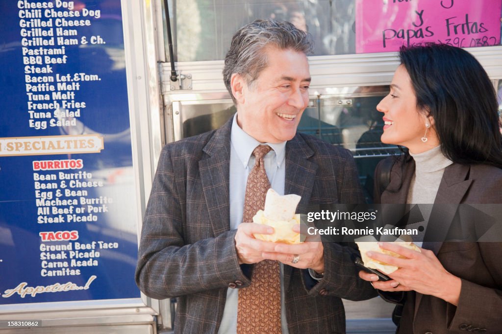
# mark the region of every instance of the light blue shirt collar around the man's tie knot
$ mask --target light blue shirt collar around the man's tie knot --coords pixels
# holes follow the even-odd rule
[[[237,153],[237,156],[240,162],[242,162],[244,168],[247,167],[249,159],[253,154],[253,150],[256,148],[256,146],[261,144],[261,142],[259,142],[240,128],[240,126],[237,124],[237,113],[233,116],[232,130],[230,133],[230,144],[235,148],[235,152]],[[269,145],[274,150],[273,152],[277,157],[277,167],[280,168],[286,157],[286,141],[280,143],[266,142],[265,144]]]

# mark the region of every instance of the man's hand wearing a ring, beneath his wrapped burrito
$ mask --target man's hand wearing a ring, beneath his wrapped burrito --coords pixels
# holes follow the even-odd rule
[[[293,231],[300,233],[300,225],[295,225]],[[318,273],[324,272],[324,246],[319,241],[309,241],[295,245],[277,243],[273,251],[264,251],[265,259],[278,260],[292,267],[307,269],[311,268]],[[293,263],[295,256],[299,256],[298,262]]]

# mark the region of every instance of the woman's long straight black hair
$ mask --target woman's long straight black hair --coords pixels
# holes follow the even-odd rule
[[[401,47],[417,107],[434,118],[443,154],[456,163],[502,168],[502,135],[493,85],[467,51],[445,44]]]

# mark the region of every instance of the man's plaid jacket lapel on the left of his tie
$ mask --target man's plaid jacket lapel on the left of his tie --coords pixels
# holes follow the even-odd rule
[[[230,229],[230,130],[232,117],[204,146],[199,175],[214,236]]]

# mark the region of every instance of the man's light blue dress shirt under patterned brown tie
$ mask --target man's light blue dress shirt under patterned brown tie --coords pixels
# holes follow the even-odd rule
[[[237,124],[237,114],[233,117],[230,133],[230,229],[242,223],[244,213],[244,194],[249,172],[255,165],[254,149],[261,143],[244,132]],[[286,141],[278,144],[265,143],[272,147],[265,155],[265,171],[270,185],[279,195],[284,195],[286,180]],[[284,304],[283,265],[281,264],[281,321],[283,334],[288,333]],[[218,333],[227,334],[237,331],[238,289],[228,289],[225,309]]]

